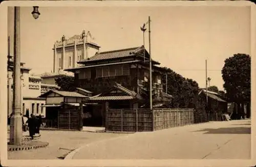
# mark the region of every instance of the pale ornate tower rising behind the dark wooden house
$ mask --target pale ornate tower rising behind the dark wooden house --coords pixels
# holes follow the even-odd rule
[[[94,40],[90,31],[82,31],[81,35],[74,35],[66,39],[63,35],[61,41],[54,43],[53,73],[60,73],[66,68],[80,66],[78,61],[88,59],[99,51],[100,46]]]

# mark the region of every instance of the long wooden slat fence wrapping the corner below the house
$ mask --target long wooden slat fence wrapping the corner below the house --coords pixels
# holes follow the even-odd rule
[[[205,117],[206,116],[206,117]],[[205,113],[195,109],[108,109],[106,131],[154,131],[208,122]]]

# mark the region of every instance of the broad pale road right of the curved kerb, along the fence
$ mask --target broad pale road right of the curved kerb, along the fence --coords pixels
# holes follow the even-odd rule
[[[210,122],[93,142],[73,159],[250,159],[250,120]]]

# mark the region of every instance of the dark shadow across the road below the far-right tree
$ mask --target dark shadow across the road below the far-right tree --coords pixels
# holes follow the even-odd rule
[[[204,132],[204,134],[250,134],[250,127],[234,127],[234,128],[218,128],[218,129],[202,129],[194,132]]]

